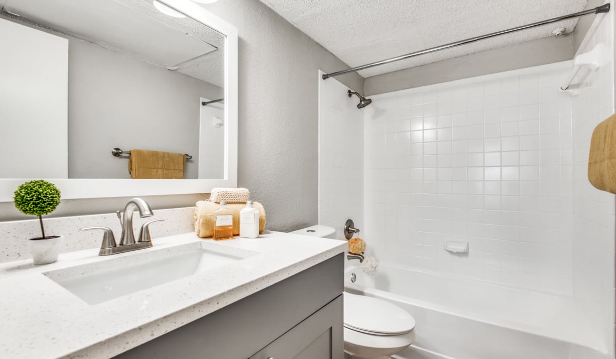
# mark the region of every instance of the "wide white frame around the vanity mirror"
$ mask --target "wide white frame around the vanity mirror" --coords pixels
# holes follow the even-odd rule
[[[181,195],[209,193],[214,187],[237,187],[237,29],[190,0],[160,0],[160,2],[225,36],[225,178],[44,179],[59,188],[62,199]],[[0,202],[12,201],[18,185],[34,179],[38,178],[0,179]]]

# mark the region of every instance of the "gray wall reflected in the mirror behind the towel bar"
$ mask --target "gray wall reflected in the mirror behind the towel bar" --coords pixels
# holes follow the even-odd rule
[[[111,148],[188,153],[196,179],[200,98],[221,87],[90,42],[68,45],[68,177],[128,179],[128,156]]]

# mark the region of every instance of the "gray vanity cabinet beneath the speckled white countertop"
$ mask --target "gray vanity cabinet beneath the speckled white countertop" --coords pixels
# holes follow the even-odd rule
[[[116,358],[342,359],[343,260],[325,260]]]

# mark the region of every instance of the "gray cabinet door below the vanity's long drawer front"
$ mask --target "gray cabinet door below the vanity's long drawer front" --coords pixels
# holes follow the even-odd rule
[[[342,359],[343,313],[339,296],[249,359]]]

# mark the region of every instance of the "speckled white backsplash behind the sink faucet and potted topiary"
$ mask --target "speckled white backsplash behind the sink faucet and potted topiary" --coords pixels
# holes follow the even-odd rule
[[[154,216],[146,218],[139,218],[139,212],[136,211],[132,216],[135,236],[139,235],[142,224],[154,219],[164,219],[164,221],[150,225],[153,243],[156,243],[156,238],[163,236],[194,232],[194,209],[194,207],[155,209]],[[122,233],[120,220],[115,213],[49,219],[43,216],[43,225],[47,235],[64,236],[60,253],[100,247],[103,238],[101,230],[81,231],[79,228],[109,227],[113,230],[116,243],[120,243]],[[28,238],[38,236],[41,236],[38,219],[0,222],[0,263],[31,258]]]

